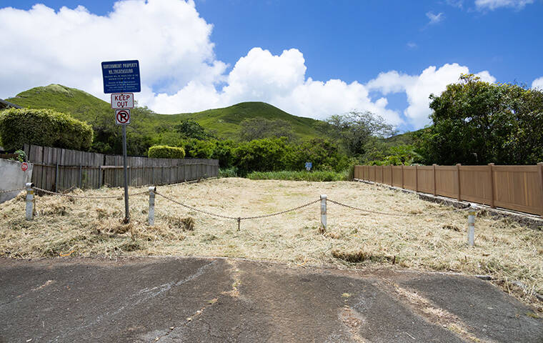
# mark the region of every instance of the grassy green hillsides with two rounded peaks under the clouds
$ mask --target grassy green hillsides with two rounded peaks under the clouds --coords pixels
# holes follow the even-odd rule
[[[66,112],[76,119],[88,122],[93,127],[114,125],[113,110],[109,103],[79,89],[59,84],[29,89],[6,101],[34,109],[44,108]],[[172,126],[179,124],[181,119],[190,118],[198,121],[204,128],[216,132],[219,138],[236,139],[241,121],[254,117],[288,121],[292,124],[294,134],[299,138],[314,138],[320,135],[317,129],[319,121],[293,116],[264,102],[244,102],[224,109],[208,109],[183,114],[155,114],[146,109],[134,109],[129,130],[155,136],[161,132],[170,131]]]

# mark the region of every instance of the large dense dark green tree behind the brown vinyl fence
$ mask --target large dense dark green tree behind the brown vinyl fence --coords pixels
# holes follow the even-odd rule
[[[543,92],[460,76],[430,95],[433,125],[417,135],[427,164],[535,164],[543,160]]]

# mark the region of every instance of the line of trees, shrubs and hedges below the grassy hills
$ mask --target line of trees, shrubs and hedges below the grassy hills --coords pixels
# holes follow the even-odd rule
[[[129,154],[136,156],[149,154],[151,146],[181,148],[186,157],[219,159],[221,168],[235,168],[240,174],[302,170],[305,161],[312,161],[316,169],[337,172],[350,164],[543,161],[543,91],[517,84],[492,84],[467,74],[439,96],[430,95],[430,99],[432,124],[401,135],[380,116],[351,111],[320,121],[317,129],[322,132],[321,138],[299,139],[292,124],[282,119],[252,118],[241,122],[239,139],[225,140],[198,122],[184,119],[173,127],[159,127],[154,136],[133,129],[127,145]],[[153,114],[146,107],[134,111],[142,116]],[[53,119],[46,119],[49,117]],[[121,137],[117,131],[109,122],[95,121],[90,128],[53,111],[0,112],[0,138],[8,149],[30,142],[119,154]],[[154,151],[179,156],[179,150]]]

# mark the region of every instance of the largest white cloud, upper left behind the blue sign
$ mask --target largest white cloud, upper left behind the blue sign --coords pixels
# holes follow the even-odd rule
[[[211,29],[193,1],[118,1],[106,16],[83,6],[0,9],[0,96],[50,83],[101,94],[101,61],[124,59],[139,59],[149,89],[218,81],[226,65],[214,58]]]

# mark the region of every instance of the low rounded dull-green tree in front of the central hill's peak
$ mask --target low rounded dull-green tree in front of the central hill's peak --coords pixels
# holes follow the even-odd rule
[[[241,131],[239,136],[244,141],[263,138],[287,137],[292,141],[294,138],[294,129],[292,124],[282,119],[266,119],[256,117],[241,121]]]

